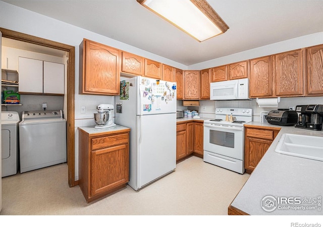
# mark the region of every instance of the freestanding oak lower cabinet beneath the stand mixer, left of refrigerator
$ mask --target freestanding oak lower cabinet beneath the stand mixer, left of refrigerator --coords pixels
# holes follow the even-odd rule
[[[79,186],[86,202],[126,187],[129,131],[88,134],[79,129]]]

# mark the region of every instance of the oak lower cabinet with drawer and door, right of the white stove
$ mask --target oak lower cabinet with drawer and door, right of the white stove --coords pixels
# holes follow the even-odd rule
[[[252,173],[260,159],[271,146],[279,131],[279,128],[249,128],[248,126],[245,126],[244,167],[246,173]]]

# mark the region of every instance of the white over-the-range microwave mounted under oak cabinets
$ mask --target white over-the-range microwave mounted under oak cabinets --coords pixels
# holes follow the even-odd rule
[[[210,89],[210,100],[249,99],[248,78],[213,82]]]

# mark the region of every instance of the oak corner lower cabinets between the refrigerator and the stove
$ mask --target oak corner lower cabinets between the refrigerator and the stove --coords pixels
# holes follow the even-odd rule
[[[203,123],[187,122],[177,124],[176,161],[191,155],[203,158]]]

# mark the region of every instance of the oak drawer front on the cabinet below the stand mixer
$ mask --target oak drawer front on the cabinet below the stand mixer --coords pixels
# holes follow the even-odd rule
[[[125,143],[128,143],[128,133],[93,138],[91,141],[91,150],[98,150]]]

